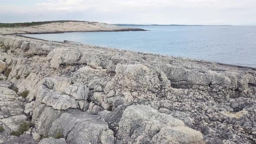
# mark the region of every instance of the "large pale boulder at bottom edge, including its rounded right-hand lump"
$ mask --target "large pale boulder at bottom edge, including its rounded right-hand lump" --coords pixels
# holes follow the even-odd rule
[[[158,135],[162,129],[162,131],[166,132],[166,135],[172,135],[173,133],[167,131],[167,128],[180,130],[178,132],[181,134],[177,135],[186,135],[186,138],[188,138],[186,141],[198,142],[200,140],[203,142],[203,136],[200,131],[187,128],[183,121],[145,105],[131,105],[125,108],[119,122],[116,137],[122,143],[151,143],[151,139],[156,137],[155,135]],[[190,133],[190,131],[194,133]],[[167,136],[162,136],[161,138],[163,139],[162,141],[171,141]],[[174,141],[178,139],[179,137],[174,137]],[[157,141],[155,144],[161,143]]]

